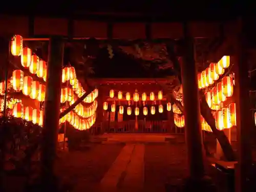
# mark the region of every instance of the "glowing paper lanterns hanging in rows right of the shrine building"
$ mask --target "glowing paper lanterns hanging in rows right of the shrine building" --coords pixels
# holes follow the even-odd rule
[[[214,84],[229,66],[230,56],[223,56],[218,63],[210,63],[208,68],[198,74],[199,89],[204,89]],[[227,107],[224,107],[223,104],[227,98],[232,97],[234,84],[234,74],[231,73],[228,76],[224,76],[221,82],[218,82],[215,87],[207,90],[205,93],[206,102],[212,110],[218,130],[230,129],[232,126],[236,126],[236,103],[232,102]],[[182,94],[182,87],[179,93]],[[173,112],[175,113],[174,121],[176,126],[184,127],[184,116],[179,115],[181,112],[175,104],[173,105]],[[210,126],[202,116],[201,125],[202,130],[211,132]]]

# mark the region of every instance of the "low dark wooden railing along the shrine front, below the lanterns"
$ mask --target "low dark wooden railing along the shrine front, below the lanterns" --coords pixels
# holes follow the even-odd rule
[[[167,121],[143,121],[138,120],[136,127],[135,120],[130,121],[103,121],[92,127],[93,134],[102,133],[170,133],[184,134],[184,129],[170,125]]]

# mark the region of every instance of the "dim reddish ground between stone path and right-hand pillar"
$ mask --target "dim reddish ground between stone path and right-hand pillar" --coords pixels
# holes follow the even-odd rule
[[[145,191],[165,191],[166,183],[177,184],[185,176],[184,144],[146,144]]]

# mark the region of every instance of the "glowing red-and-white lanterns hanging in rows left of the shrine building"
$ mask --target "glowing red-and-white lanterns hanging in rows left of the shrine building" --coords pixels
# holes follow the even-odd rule
[[[31,74],[36,75],[46,81],[47,78],[47,65],[46,62],[36,54],[32,54],[32,50],[23,46],[23,37],[20,35],[14,35],[11,39],[11,53],[14,56],[20,56],[20,62],[24,68],[28,68]],[[62,69],[62,83],[69,81],[71,88],[61,89],[61,103],[68,101],[69,104],[73,104],[78,97],[81,97],[86,91],[83,90],[81,83],[76,78],[75,69],[73,67],[66,67]],[[24,76],[22,70],[14,70],[13,75],[10,79],[11,87],[14,91],[22,91],[24,95],[30,96],[32,99],[37,99],[38,101],[44,101],[45,99],[45,86],[40,84],[39,81],[33,81],[30,76]],[[0,94],[5,93],[5,82],[0,82]],[[74,94],[76,93],[77,96]],[[60,122],[69,121],[76,129],[84,130],[89,129],[95,122],[96,119],[96,109],[98,90],[92,91],[83,102],[91,103],[89,107],[83,106],[81,103],[76,106],[74,112],[71,111],[65,117],[60,119]],[[16,106],[17,105],[17,106]],[[16,103],[14,105],[13,115],[15,117],[25,118],[26,120],[31,120],[30,117],[33,116],[31,113],[31,107],[26,107],[23,110],[22,103]],[[62,109],[61,109],[62,110]],[[33,110],[32,110],[33,111]],[[25,115],[24,115],[25,113]],[[32,114],[32,115],[31,115]],[[37,113],[35,113],[37,114]],[[40,125],[40,123],[39,123]]]

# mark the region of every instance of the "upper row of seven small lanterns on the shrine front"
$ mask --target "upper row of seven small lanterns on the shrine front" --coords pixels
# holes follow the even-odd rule
[[[114,90],[110,90],[110,98],[114,98],[114,97],[115,97],[115,91],[114,91]],[[119,91],[119,92],[117,93],[117,98],[118,98],[118,99],[122,99],[122,98],[123,98],[123,93],[122,93],[121,91]],[[127,101],[130,101],[130,100],[131,100],[131,93],[127,92],[127,93],[125,94],[125,99],[126,99]],[[138,93],[137,91],[135,91],[135,93],[133,94],[133,100],[134,100],[135,102],[138,102],[139,99],[140,99],[139,93]],[[162,100],[162,99],[163,99],[163,92],[162,92],[162,91],[159,91],[159,92],[158,92],[158,100]],[[147,95],[146,95],[146,93],[142,93],[142,94],[141,94],[141,100],[142,100],[142,101],[146,101],[146,100],[147,100]],[[151,101],[154,101],[154,100],[155,100],[155,94],[154,94],[154,92],[151,92],[151,93],[150,93],[150,100],[151,100]]]

